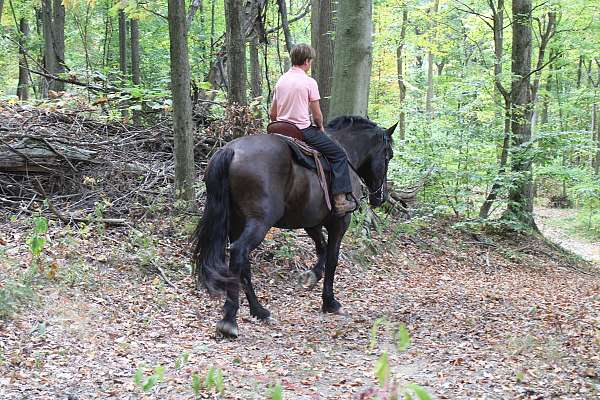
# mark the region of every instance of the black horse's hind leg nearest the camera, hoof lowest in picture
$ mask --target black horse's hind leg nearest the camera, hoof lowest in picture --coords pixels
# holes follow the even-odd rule
[[[217,331],[227,337],[237,337],[238,328],[236,316],[240,307],[240,278],[244,268],[249,267],[248,255],[254,250],[267,234],[268,227],[257,220],[248,220],[239,238],[230,248],[229,276],[227,282],[227,299],[223,319],[217,323]]]

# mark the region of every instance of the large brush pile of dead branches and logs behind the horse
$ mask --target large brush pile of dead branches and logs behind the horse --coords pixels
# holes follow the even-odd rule
[[[198,179],[219,147],[263,129],[248,108],[225,107],[224,114],[196,129]],[[168,113],[141,127],[102,121],[97,110],[0,102],[0,216],[32,214],[44,202],[65,221],[146,216],[173,204],[173,146]]]

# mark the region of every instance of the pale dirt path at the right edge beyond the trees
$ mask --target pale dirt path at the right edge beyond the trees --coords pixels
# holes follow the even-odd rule
[[[542,234],[552,242],[572,251],[581,258],[600,265],[600,241],[592,242],[582,237],[575,236],[550,224],[551,220],[565,217],[574,217],[575,210],[560,208],[536,207],[536,223]]]

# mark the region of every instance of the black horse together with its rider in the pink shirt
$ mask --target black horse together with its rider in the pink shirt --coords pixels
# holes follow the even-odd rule
[[[278,135],[249,135],[229,142],[211,157],[204,173],[206,204],[194,233],[194,275],[197,284],[209,292],[226,295],[217,331],[227,337],[238,336],[240,288],[246,293],[252,316],[260,320],[270,316],[254,292],[249,255],[273,226],[303,228],[313,239],[317,262],[306,272],[308,281],[314,286],[324,278],[321,309],[339,313],[342,306],[333,284],[340,245],[350,224],[349,212],[355,208],[346,194],[359,198],[362,180],[372,206],[380,206],[387,197],[396,125],[386,130],[366,118],[341,116],[327,125],[325,134],[317,84],[306,75],[313,58],[309,46],[292,50],[294,66],[277,83],[270,116],[296,124],[304,140],[329,158],[335,213],[317,173],[299,164],[290,142]],[[309,110],[316,128],[311,128]],[[348,164],[355,172],[350,176]]]

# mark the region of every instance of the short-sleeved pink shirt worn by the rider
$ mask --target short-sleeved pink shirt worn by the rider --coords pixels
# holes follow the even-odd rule
[[[275,85],[277,120],[291,122],[300,129],[308,128],[311,125],[308,103],[320,99],[317,81],[302,68],[293,66]]]

